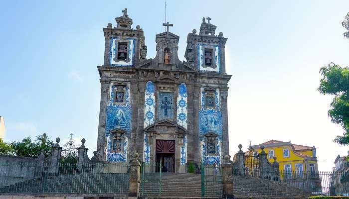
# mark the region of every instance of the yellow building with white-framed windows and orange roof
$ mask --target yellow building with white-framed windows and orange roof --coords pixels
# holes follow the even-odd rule
[[[274,162],[275,156],[279,163],[279,169],[282,173],[318,173],[318,161],[316,158],[315,146],[303,146],[292,144],[291,142],[283,142],[278,140],[269,140],[262,144],[250,146],[248,153],[258,156],[261,152],[261,146],[267,153],[270,163]]]

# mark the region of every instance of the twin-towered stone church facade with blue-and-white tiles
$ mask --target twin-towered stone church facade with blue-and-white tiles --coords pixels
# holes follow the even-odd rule
[[[156,35],[156,57],[147,58],[143,29],[127,9],[108,23],[101,83],[97,139],[99,161],[130,161],[134,152],[144,164],[162,162],[169,172],[185,172],[188,162],[222,164],[229,155],[225,72],[227,38],[211,18],[187,35],[186,61],[177,55],[179,36]]]

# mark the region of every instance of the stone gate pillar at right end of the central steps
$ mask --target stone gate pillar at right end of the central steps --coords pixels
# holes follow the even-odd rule
[[[223,161],[223,191],[226,199],[234,199],[233,195],[233,165],[229,156],[224,156]]]

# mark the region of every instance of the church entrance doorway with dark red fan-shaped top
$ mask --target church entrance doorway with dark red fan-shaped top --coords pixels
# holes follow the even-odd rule
[[[161,163],[162,172],[174,172],[174,151],[174,140],[156,140],[156,163]]]

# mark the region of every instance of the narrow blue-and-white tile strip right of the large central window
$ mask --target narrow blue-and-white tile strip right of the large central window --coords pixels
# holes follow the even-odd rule
[[[177,124],[187,129],[187,95],[185,84],[178,86]]]

